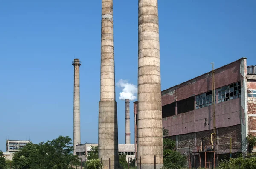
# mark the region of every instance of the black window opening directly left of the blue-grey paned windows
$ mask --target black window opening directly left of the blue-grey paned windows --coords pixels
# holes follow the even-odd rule
[[[189,97],[178,101],[178,114],[185,113],[194,110],[195,107],[195,97]]]

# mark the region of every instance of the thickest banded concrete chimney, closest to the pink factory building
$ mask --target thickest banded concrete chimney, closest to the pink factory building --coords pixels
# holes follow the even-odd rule
[[[154,169],[154,155],[156,168],[163,166],[161,102],[157,0],[139,0],[137,159],[142,169]]]

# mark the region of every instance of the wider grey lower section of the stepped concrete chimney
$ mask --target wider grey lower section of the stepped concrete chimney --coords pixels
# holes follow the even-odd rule
[[[118,158],[117,104],[116,101],[99,102],[99,159],[104,167],[116,169]]]

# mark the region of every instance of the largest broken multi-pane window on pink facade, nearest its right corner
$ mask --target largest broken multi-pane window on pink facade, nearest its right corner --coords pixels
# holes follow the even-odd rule
[[[241,97],[241,83],[236,82],[218,89],[218,103]]]

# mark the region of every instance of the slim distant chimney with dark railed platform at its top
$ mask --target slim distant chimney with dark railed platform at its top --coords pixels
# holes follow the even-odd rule
[[[72,62],[74,66],[74,155],[76,155],[76,145],[81,144],[80,134],[80,82],[79,82],[79,67],[82,62],[79,59],[74,59]]]

